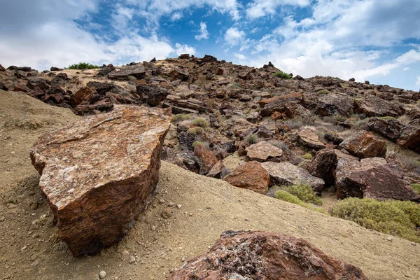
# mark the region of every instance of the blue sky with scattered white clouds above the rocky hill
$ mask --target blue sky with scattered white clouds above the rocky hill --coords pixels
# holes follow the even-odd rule
[[[0,0],[0,64],[207,54],[419,90],[419,27],[419,0]]]

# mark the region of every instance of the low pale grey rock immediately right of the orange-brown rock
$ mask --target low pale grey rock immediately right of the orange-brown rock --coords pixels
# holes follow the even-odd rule
[[[305,169],[292,165],[290,162],[262,162],[261,166],[269,174],[269,186],[308,183],[316,192],[321,192],[325,186],[323,179],[312,176]]]

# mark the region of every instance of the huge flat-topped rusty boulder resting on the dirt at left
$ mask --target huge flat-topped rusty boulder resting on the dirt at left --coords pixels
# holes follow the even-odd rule
[[[158,183],[167,111],[118,106],[43,135],[31,148],[59,237],[73,255],[119,241]]]

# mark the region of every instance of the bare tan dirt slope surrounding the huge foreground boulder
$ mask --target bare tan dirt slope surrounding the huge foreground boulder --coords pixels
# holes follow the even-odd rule
[[[183,258],[207,251],[224,230],[283,232],[360,267],[370,279],[420,279],[419,245],[397,237],[388,241],[388,235],[349,221],[166,162],[158,196],[130,235],[97,256],[73,258],[57,240],[28,151],[40,134],[77,117],[25,94],[2,91],[0,117],[1,279],[98,279],[102,270],[106,279],[166,279]],[[130,264],[130,255],[138,261]]]

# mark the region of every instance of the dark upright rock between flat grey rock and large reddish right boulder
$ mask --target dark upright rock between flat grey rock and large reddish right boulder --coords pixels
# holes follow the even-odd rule
[[[337,154],[332,150],[324,149],[316,153],[307,170],[312,176],[323,179],[326,186],[333,186],[337,163]]]

